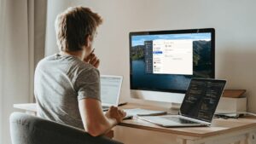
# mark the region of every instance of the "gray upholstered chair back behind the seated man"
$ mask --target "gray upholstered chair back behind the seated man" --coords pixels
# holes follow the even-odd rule
[[[21,112],[10,115],[13,144],[121,144],[105,136],[93,137],[84,130]]]

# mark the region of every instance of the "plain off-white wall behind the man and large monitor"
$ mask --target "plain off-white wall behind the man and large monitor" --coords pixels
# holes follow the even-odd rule
[[[122,99],[135,101],[129,96],[129,32],[214,27],[216,77],[226,78],[229,89],[247,89],[248,110],[256,112],[253,105],[256,101],[256,1],[49,1],[46,55],[57,51],[54,31],[56,14],[76,5],[90,7],[104,18],[96,37],[96,55],[102,61],[102,74],[125,76]]]

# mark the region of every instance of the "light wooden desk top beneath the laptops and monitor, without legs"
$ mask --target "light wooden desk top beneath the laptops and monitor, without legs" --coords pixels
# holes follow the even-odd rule
[[[22,110],[37,112],[36,104],[15,104],[15,108],[19,108]],[[160,107],[147,107],[136,104],[127,104],[121,108],[145,108],[151,110],[163,110]],[[185,127],[185,128],[164,128],[160,127],[156,124],[152,124],[141,119],[133,118],[124,120],[120,126],[131,127],[142,130],[154,130],[165,133],[171,133],[174,135],[186,135],[193,137],[207,137],[212,135],[221,135],[224,133],[229,133],[237,130],[246,130],[250,128],[256,128],[256,118],[255,117],[247,117],[247,118],[230,118],[223,119],[217,118],[212,121],[212,125],[210,127]]]

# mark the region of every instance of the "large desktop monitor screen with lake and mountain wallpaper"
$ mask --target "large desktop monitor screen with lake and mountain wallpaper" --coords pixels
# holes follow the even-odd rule
[[[130,32],[131,89],[185,93],[191,78],[214,78],[215,31]]]

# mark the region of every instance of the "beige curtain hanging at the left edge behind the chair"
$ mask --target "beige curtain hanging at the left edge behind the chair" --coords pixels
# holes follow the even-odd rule
[[[9,114],[33,101],[33,72],[44,56],[45,0],[0,0],[0,144],[10,144]]]

